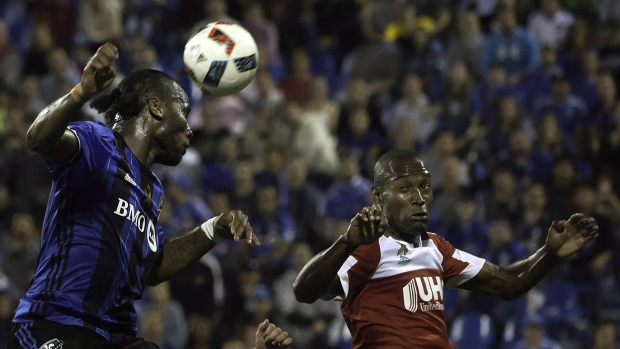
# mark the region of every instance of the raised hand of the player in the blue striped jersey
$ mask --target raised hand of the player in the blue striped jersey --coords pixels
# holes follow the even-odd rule
[[[80,80],[84,100],[92,98],[112,84],[116,77],[112,63],[116,59],[118,59],[118,48],[109,42],[101,45],[90,58]]]

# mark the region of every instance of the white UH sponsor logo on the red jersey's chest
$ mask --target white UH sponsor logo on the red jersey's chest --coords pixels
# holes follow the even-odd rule
[[[403,287],[405,309],[415,313],[421,311],[443,311],[443,280],[439,276],[414,277]]]

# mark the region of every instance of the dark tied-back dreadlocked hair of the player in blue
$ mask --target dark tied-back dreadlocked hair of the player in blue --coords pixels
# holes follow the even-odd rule
[[[161,96],[166,82],[174,80],[167,74],[153,69],[140,69],[129,73],[112,92],[98,96],[90,107],[104,113],[108,127],[120,120],[131,119],[140,113],[149,98]],[[117,115],[120,119],[117,119]]]

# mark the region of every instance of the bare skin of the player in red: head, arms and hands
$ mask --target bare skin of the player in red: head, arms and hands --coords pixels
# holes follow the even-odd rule
[[[430,174],[422,159],[414,153],[397,151],[385,154],[379,162],[381,166],[378,167],[387,171],[389,179],[383,185],[375,183],[372,188],[374,204],[353,217],[347,232],[300,272],[293,285],[298,301],[313,303],[319,298],[344,296],[338,270],[359,246],[374,243],[386,229],[390,229],[394,238],[410,243],[418,234],[426,232],[433,192]],[[487,261],[480,272],[460,288],[504,300],[519,298],[559,261],[597,236],[594,219],[581,213],[573,214],[568,220],[553,221],[546,244],[533,255],[501,267]]]

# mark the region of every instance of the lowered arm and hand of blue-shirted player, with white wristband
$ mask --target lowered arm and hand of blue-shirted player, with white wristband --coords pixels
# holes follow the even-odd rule
[[[220,239],[260,245],[248,216],[238,210],[223,213],[184,236],[166,240],[160,260],[151,270],[146,284],[153,286],[169,280],[202,258]]]

